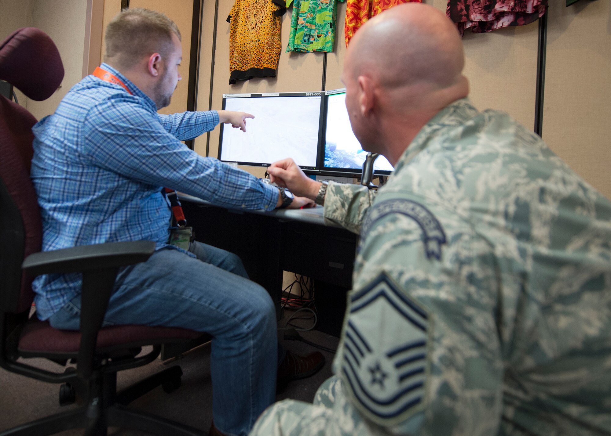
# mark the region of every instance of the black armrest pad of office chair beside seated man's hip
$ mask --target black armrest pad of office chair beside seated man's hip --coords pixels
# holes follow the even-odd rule
[[[155,252],[153,241],[108,242],[27,256],[21,267],[32,275],[82,272],[133,265]]]

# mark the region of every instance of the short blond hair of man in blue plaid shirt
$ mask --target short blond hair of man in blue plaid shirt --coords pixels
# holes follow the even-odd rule
[[[104,60],[129,69],[144,56],[159,53],[167,57],[172,50],[172,32],[180,40],[174,21],[161,12],[134,7],[123,9],[106,26]]]

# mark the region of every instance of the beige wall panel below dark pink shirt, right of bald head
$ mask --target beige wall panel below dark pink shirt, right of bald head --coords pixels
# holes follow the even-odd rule
[[[447,0],[425,1],[445,13]],[[535,125],[538,21],[463,37],[464,74],[475,106],[508,112],[525,127]]]

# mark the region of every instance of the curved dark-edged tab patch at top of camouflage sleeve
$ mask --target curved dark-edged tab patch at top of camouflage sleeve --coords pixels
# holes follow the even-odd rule
[[[417,222],[422,228],[426,258],[441,259],[441,246],[447,242],[444,229],[430,210],[412,200],[396,198],[373,205],[361,227],[360,240],[365,241],[376,221],[389,214],[401,214]]]

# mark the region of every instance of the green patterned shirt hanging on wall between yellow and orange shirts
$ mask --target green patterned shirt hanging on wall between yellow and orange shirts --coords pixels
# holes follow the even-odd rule
[[[291,2],[292,0],[287,0],[287,7]],[[295,0],[286,53],[333,51],[337,21],[335,2],[336,0]]]

